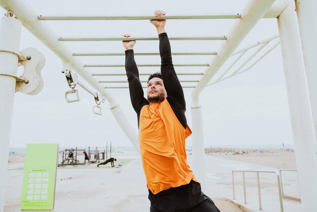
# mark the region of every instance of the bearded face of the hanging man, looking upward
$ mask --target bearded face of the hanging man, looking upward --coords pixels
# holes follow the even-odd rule
[[[150,103],[160,103],[167,97],[163,80],[154,77],[147,83],[147,100]]]

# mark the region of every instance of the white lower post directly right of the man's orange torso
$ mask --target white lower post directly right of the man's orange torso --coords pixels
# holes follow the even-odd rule
[[[192,118],[192,165],[195,178],[201,182],[202,188],[205,187],[206,171],[205,171],[205,146],[202,105],[191,106]]]

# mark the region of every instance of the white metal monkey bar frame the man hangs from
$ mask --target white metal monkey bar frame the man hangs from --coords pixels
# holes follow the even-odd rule
[[[249,31],[254,27],[254,25],[257,23],[257,21],[260,18],[276,18],[279,17],[279,15],[283,12],[283,14],[279,17],[279,23],[280,23],[280,33],[281,37],[284,41],[282,41],[282,47],[283,47],[283,56],[285,60],[288,60],[289,64],[285,63],[285,73],[287,77],[287,84],[288,84],[288,95],[289,95],[289,101],[290,101],[290,111],[292,120],[295,120],[296,123],[293,123],[293,133],[294,133],[294,143],[295,143],[295,152],[296,152],[296,159],[298,170],[299,170],[299,179],[300,179],[300,188],[301,188],[301,194],[302,194],[302,202],[303,202],[303,208],[305,208],[306,211],[310,211],[313,208],[317,208],[316,202],[313,202],[315,199],[317,199],[316,196],[316,183],[311,182],[313,179],[317,178],[317,172],[316,172],[316,155],[315,152],[315,145],[312,144],[312,141],[315,142],[313,138],[311,138],[313,134],[313,129],[311,128],[311,123],[309,122],[309,101],[307,101],[308,96],[305,95],[305,86],[303,81],[303,67],[299,64],[301,63],[300,54],[296,54],[294,57],[294,61],[291,62],[292,59],[290,56],[290,53],[298,53],[301,51],[301,48],[298,47],[296,42],[299,41],[299,39],[296,40],[296,36],[294,36],[294,33],[296,33],[295,28],[288,28],[289,25],[294,25],[294,21],[296,18],[294,18],[294,14],[291,14],[290,11],[294,13],[294,7],[291,6],[291,2],[293,0],[287,0],[288,2],[288,10],[287,12],[283,12],[286,8],[286,4],[283,1],[276,1],[274,0],[250,0],[247,3],[247,6],[243,10],[242,13],[236,13],[236,14],[209,14],[209,15],[172,15],[165,17],[166,19],[237,19],[236,23],[228,33],[228,36],[218,36],[218,37],[177,37],[177,38],[170,38],[170,40],[223,40],[223,44],[219,51],[216,52],[175,52],[173,55],[214,55],[213,59],[211,60],[210,66],[206,69],[205,73],[178,73],[179,76],[194,76],[194,75],[201,75],[200,80],[192,80],[194,82],[197,82],[196,86],[193,89],[192,92],[192,129],[193,129],[193,169],[195,172],[195,175],[198,180],[200,180],[204,184],[204,178],[205,178],[205,159],[204,159],[204,137],[203,137],[203,125],[202,125],[202,110],[201,105],[199,104],[199,94],[200,92],[207,86],[207,84],[210,82],[210,80],[215,76],[215,74],[218,72],[220,67],[226,62],[226,60],[231,55],[240,54],[237,56],[237,58],[241,58],[245,52],[250,49],[251,47],[247,47],[242,50],[237,50],[233,52],[236,47],[243,41],[243,39],[247,36]],[[272,3],[274,4],[272,5]],[[299,2],[299,1],[297,1]],[[110,92],[107,92],[105,88],[111,88],[111,87],[104,87],[101,83],[123,83],[123,81],[118,80],[110,80],[107,81],[100,81],[96,79],[97,76],[126,76],[124,73],[118,73],[118,74],[91,74],[91,72],[88,72],[88,70],[85,67],[123,67],[124,65],[120,66],[111,66],[111,65],[99,65],[99,66],[93,66],[93,65],[84,65],[83,62],[81,62],[78,57],[74,56],[124,56],[124,53],[111,53],[111,52],[102,52],[102,53],[72,53],[67,47],[65,42],[60,41],[123,41],[123,40],[158,40],[157,38],[62,38],[56,36],[56,33],[51,30],[43,20],[144,20],[144,19],[153,19],[152,16],[46,16],[46,15],[37,15],[33,11],[33,9],[25,3],[25,1],[22,0],[0,0],[0,4],[3,8],[7,10],[12,10],[19,18],[19,20],[22,22],[22,24],[27,28],[31,33],[34,34],[35,37],[37,37],[39,40],[41,40],[46,46],[48,46],[58,57],[60,57],[64,62],[71,63],[71,67],[73,70],[76,71],[78,75],[80,75],[83,79],[85,79],[89,84],[91,84],[98,92],[100,92],[103,96],[106,97],[110,104],[110,109],[113,113],[113,116],[117,120],[117,122],[120,124],[122,129],[125,131],[127,136],[130,138],[132,144],[138,149],[138,139],[137,139],[137,133],[132,130],[132,126],[126,119],[126,117],[123,115],[123,111],[118,106],[117,102],[115,101],[114,97],[110,94]],[[317,98],[316,98],[316,91],[315,89],[315,81],[316,81],[316,75],[314,74],[314,70],[316,69],[316,60],[312,55],[314,55],[314,51],[317,48],[315,42],[316,35],[316,25],[312,24],[313,33],[309,35],[311,26],[308,25],[308,14],[310,14],[307,11],[311,11],[312,8],[316,8],[316,3],[301,3],[303,6],[297,5],[298,7],[298,15],[299,15],[299,23],[302,28],[302,43],[304,47],[304,56],[305,56],[305,65],[306,65],[306,71],[308,77],[308,85],[309,85],[309,92],[311,96],[311,107],[313,108],[313,114],[314,114],[314,121],[316,122],[316,113],[315,108],[317,107]],[[315,16],[314,16],[315,17]],[[316,18],[313,19],[313,23],[316,23]],[[291,23],[291,24],[290,24]],[[286,34],[290,31],[291,36]],[[290,37],[290,38],[287,38]],[[289,40],[288,40],[289,39]],[[1,42],[1,41],[0,41]],[[313,42],[313,43],[311,43]],[[256,45],[261,45],[258,52],[264,48],[267,41],[263,41],[263,43],[258,43]],[[256,46],[253,45],[253,46]],[[260,58],[258,58],[255,62],[253,62],[251,65],[243,69],[243,66],[240,66],[235,70],[231,76],[235,76],[237,74],[243,73],[246,70],[250,69],[257,61],[262,59],[268,52],[270,52],[273,48],[275,48],[278,43],[276,43],[273,47],[271,47],[269,50],[267,50]],[[293,46],[294,45],[294,46]],[[292,51],[292,50],[296,51]],[[287,52],[287,50],[290,50],[290,52]],[[6,53],[1,53],[6,54]],[[159,53],[136,53],[136,56],[145,56],[145,55],[159,55]],[[255,55],[255,54],[254,54]],[[248,62],[251,60],[251,58],[254,56],[251,55],[249,58],[247,58],[247,61],[244,63],[244,66],[248,64]],[[234,63],[237,61],[233,61],[232,64],[230,64],[230,67],[233,67]],[[294,64],[293,67],[291,67]],[[184,64],[183,64],[184,65]],[[139,65],[142,66],[142,65]],[[144,66],[144,65],[143,65]],[[155,65],[157,66],[157,65]],[[177,66],[177,64],[175,65]],[[188,66],[188,65],[187,65]],[[194,66],[193,64],[191,66]],[[200,66],[200,65],[195,65]],[[204,64],[203,66],[206,66]],[[296,70],[295,67],[298,67]],[[292,70],[291,72],[289,71]],[[229,70],[229,69],[228,69]],[[297,77],[300,76],[301,79],[297,79],[294,77],[293,73],[297,73]],[[140,76],[144,75],[150,75],[152,73],[141,73]],[[216,82],[220,82],[224,79],[225,74],[223,74]],[[0,76],[0,79],[3,79],[3,77]],[[190,81],[190,82],[192,82]],[[126,81],[124,81],[126,83]],[[185,82],[185,81],[183,81]],[[189,81],[187,81],[189,82]],[[214,83],[213,83],[214,84]],[[0,84],[2,86],[4,84]],[[294,89],[294,85],[298,85],[297,90]],[[10,87],[10,86],[9,86]],[[86,87],[86,86],[84,86]],[[119,88],[120,86],[117,86],[116,88]],[[126,86],[122,86],[125,87]],[[122,88],[120,87],[120,88]],[[191,86],[187,86],[191,87]],[[113,87],[112,87],[113,88]],[[185,88],[185,86],[184,86]],[[84,88],[85,89],[85,88]],[[294,90],[295,91],[294,91]],[[300,90],[300,92],[298,92]],[[0,90],[1,91],[1,90]],[[91,94],[93,92],[90,91]],[[304,95],[302,95],[304,94]],[[301,101],[298,101],[298,99],[301,99]],[[303,102],[302,105],[300,103],[294,104],[292,102]],[[12,108],[10,109],[12,110]],[[9,110],[9,112],[10,112]],[[2,113],[0,111],[0,113]],[[302,115],[302,117],[299,117],[299,114]],[[5,122],[1,122],[0,124],[3,124]],[[6,123],[5,123],[6,124]],[[298,125],[301,125],[298,127]],[[0,128],[1,130],[2,128]],[[10,133],[10,127],[4,127],[4,130],[8,131]],[[307,131],[305,131],[307,130]],[[304,132],[307,132],[305,136]],[[314,137],[314,136],[313,136]],[[9,140],[9,138],[7,139]],[[303,144],[303,141],[306,144]],[[6,151],[6,150],[5,150]],[[5,153],[4,155],[6,155]],[[309,161],[309,164],[304,164],[304,161]],[[4,161],[4,160],[2,160]],[[6,161],[5,161],[6,162]],[[309,170],[309,168],[311,170]],[[305,174],[309,175],[311,172],[311,176],[309,178],[305,176]],[[1,181],[3,180],[3,175],[1,175]],[[307,182],[305,182],[307,181]],[[4,182],[4,181],[2,181]],[[311,187],[307,186],[309,183],[312,183]],[[3,191],[4,185],[0,184],[1,190]],[[307,192],[306,190],[313,189],[312,192]],[[303,193],[304,192],[304,193]],[[3,195],[0,197],[1,203],[3,204]],[[3,205],[2,205],[3,206]],[[1,209],[1,208],[0,208]]]

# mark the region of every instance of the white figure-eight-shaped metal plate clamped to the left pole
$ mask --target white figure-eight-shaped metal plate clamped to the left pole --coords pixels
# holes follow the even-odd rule
[[[34,48],[26,48],[19,54],[26,60],[19,61],[24,66],[24,72],[20,77],[16,77],[19,80],[17,80],[15,92],[35,95],[41,92],[44,86],[41,70],[45,64],[45,57]]]

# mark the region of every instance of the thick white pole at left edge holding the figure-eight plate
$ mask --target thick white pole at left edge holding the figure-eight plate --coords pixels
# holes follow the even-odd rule
[[[0,50],[19,52],[21,22],[13,17],[3,17],[0,26]],[[17,75],[18,57],[0,52],[0,73]],[[6,174],[13,113],[16,79],[0,75],[0,211],[4,211]]]

